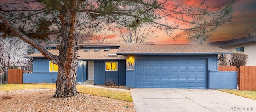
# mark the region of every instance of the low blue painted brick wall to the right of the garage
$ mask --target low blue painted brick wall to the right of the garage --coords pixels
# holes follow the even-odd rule
[[[237,89],[237,71],[210,71],[210,89]]]

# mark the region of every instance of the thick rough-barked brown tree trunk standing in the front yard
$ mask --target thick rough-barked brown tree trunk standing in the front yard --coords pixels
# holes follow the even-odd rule
[[[66,1],[64,10],[60,12],[62,23],[62,40],[59,47],[58,76],[56,81],[55,98],[71,97],[78,94],[76,90],[76,70],[78,64],[78,37],[76,37],[76,11],[72,10],[75,1]],[[52,60],[54,63],[54,60]]]

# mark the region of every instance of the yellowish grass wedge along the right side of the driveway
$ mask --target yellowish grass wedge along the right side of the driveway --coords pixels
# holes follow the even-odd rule
[[[256,90],[219,90],[219,91],[256,100]]]

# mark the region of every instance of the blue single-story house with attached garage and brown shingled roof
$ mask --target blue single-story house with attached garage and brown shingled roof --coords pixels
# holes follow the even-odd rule
[[[47,47],[51,48],[50,53],[58,55],[56,45]],[[210,75],[218,73],[218,54],[231,53],[204,44],[86,44],[78,51],[77,82],[104,85],[109,80],[127,88],[208,89]],[[56,65],[41,53],[26,57],[33,57],[34,70],[24,74],[24,83],[43,82],[42,79],[55,82]],[[236,79],[236,74],[232,78]]]

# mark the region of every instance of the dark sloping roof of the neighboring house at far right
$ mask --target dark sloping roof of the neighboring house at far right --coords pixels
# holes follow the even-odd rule
[[[227,47],[231,45],[238,45],[242,43],[250,43],[256,41],[256,36],[254,37],[242,37],[239,39],[232,39],[232,40],[227,40],[227,41],[215,41],[208,43],[209,45],[213,45],[216,47]]]

